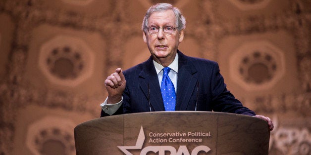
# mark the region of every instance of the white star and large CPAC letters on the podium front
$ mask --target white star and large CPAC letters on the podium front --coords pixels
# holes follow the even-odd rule
[[[165,151],[170,152],[171,155],[190,155],[186,146],[179,146],[178,151],[176,151],[176,149],[172,146],[148,146],[143,148],[145,138],[146,137],[142,126],[137,137],[135,146],[118,146],[118,148],[126,155],[133,155],[128,150],[142,150],[140,152],[140,155],[147,155],[148,152],[154,152],[158,153],[158,155],[164,155]],[[204,151],[207,153],[210,151],[210,148],[203,145],[198,146],[192,150],[191,155],[198,155],[200,151]]]

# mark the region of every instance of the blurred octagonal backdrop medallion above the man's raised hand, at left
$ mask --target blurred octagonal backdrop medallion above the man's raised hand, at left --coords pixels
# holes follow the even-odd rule
[[[55,84],[75,86],[91,77],[93,66],[93,51],[78,38],[57,36],[40,49],[39,67]]]

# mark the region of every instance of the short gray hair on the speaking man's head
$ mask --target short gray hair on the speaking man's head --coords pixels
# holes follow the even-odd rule
[[[186,18],[181,14],[180,10],[177,7],[174,7],[172,4],[169,3],[157,3],[153,6],[151,6],[144,17],[143,24],[142,24],[142,30],[147,33],[148,29],[148,18],[151,16],[154,12],[161,12],[166,10],[172,10],[176,17],[176,24],[178,32],[186,28]]]

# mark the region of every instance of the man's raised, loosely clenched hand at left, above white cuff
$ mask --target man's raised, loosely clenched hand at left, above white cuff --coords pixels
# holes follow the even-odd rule
[[[125,89],[126,80],[122,69],[118,68],[104,81],[108,92],[107,104],[115,104],[121,101]]]

